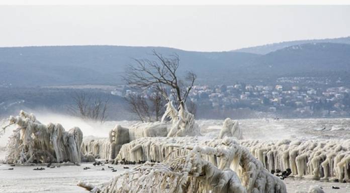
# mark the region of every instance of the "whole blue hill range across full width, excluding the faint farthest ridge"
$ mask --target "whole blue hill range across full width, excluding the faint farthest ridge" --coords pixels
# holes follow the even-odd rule
[[[190,52],[163,47],[51,46],[0,48],[0,87],[123,84],[132,58],[152,60],[152,50],[180,56],[181,75],[191,70],[199,84],[275,84],[283,76],[339,76],[350,79],[350,45],[308,43],[265,55],[244,52]]]

